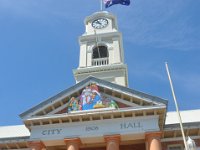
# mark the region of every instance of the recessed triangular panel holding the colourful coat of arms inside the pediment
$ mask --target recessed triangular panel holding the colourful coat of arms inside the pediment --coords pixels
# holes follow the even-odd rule
[[[84,89],[85,90],[85,89]],[[83,91],[84,91],[83,90]],[[75,113],[80,111],[94,111],[94,110],[111,110],[126,107],[140,107],[137,104],[124,101],[122,99],[110,96],[105,93],[97,92],[98,94],[93,94],[94,91],[88,92],[88,96],[84,92],[78,97],[71,97],[69,102],[58,109],[50,112],[51,114],[62,114],[62,113]],[[96,93],[96,92],[95,92]]]

